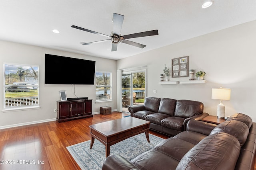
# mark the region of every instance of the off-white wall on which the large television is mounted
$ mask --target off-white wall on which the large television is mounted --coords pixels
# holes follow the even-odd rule
[[[110,59],[102,59],[98,57],[80,55],[76,53],[69,53],[58,51],[54,49],[47,49],[43,47],[36,47],[31,45],[24,45],[19,43],[12,43],[0,41],[0,75],[2,75],[0,89],[3,89],[3,63],[16,64],[32,64],[39,65],[40,76],[40,109],[26,110],[26,111],[10,111],[3,112],[3,97],[0,102],[0,127],[14,124],[22,124],[27,122],[44,121],[56,118],[56,100],[60,100],[59,90],[66,90],[68,98],[75,98],[74,85],[50,85],[44,84],[44,58],[45,53],[52,55],[60,55],[65,57],[73,57],[79,59],[87,59],[96,61],[95,70],[112,72],[112,102],[95,104],[95,85],[76,85],[75,92],[78,97],[89,97],[93,99],[92,112],[99,112],[101,106],[111,106],[116,109],[116,61]],[[4,90],[0,90],[0,96],[4,95]]]

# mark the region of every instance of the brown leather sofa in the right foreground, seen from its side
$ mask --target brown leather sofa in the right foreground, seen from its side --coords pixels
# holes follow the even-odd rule
[[[102,170],[253,170],[256,123],[242,113],[214,125],[190,119],[186,131],[130,162],[108,156]]]

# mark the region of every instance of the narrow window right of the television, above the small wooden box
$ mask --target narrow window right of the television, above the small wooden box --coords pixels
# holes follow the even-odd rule
[[[112,100],[112,73],[96,72],[96,102]]]

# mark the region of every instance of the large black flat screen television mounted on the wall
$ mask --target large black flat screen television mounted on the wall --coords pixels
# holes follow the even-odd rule
[[[94,84],[95,61],[45,54],[45,84]]]

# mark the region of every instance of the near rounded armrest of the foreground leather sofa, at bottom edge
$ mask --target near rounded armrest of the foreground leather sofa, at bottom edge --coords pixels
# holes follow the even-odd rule
[[[134,164],[118,154],[112,154],[103,162],[102,170],[139,170]]]

